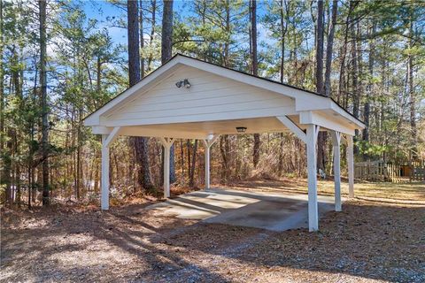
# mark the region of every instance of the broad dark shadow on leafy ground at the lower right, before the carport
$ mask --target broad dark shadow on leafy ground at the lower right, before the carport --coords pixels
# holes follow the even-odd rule
[[[166,240],[152,235],[151,241],[267,268],[346,273],[392,282],[425,281],[424,207],[347,203],[344,212],[328,212],[320,219],[318,233],[306,229],[282,233],[259,230],[261,236],[246,242],[238,241],[238,233],[228,233],[226,239],[216,237],[214,231],[223,231],[218,227],[192,226]],[[228,230],[233,227],[228,226]],[[197,237],[196,246],[190,241],[191,235]],[[211,239],[218,241],[212,243]]]

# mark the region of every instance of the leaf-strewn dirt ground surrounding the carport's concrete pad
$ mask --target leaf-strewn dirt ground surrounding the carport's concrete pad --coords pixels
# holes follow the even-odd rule
[[[231,186],[305,193],[304,180]],[[343,186],[343,196],[346,193]],[[319,192],[331,194],[332,182]],[[2,282],[425,282],[425,185],[357,184],[318,233],[204,224],[148,204],[2,210]]]

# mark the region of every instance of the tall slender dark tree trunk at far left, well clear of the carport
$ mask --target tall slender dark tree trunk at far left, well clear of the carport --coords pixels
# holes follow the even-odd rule
[[[47,73],[46,73],[46,1],[39,4],[40,17],[40,88],[42,96],[42,205],[50,205],[49,188],[49,108],[47,104]]]

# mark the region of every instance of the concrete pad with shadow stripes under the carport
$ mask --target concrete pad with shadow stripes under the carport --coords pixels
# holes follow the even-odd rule
[[[319,214],[334,210],[332,196],[319,195]],[[205,223],[248,226],[271,231],[308,227],[307,195],[212,188],[156,203],[154,213]]]

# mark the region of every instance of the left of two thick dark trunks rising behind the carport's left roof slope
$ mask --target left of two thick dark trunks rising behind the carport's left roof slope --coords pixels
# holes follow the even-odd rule
[[[129,86],[140,80],[139,25],[137,1],[128,1],[128,77]],[[146,137],[132,137],[135,159],[139,164],[138,183],[145,189],[151,189],[151,170],[149,167],[149,144]]]

